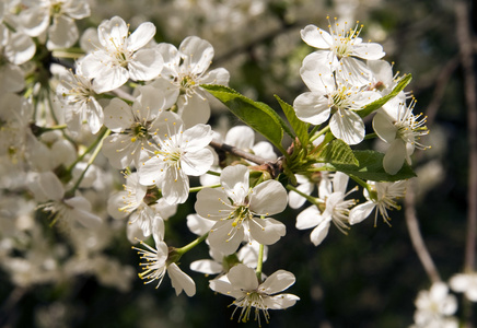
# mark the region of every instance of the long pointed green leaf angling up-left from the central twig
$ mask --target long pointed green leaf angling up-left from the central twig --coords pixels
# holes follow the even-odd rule
[[[221,101],[229,109],[255,131],[261,133],[282,153],[283,126],[287,126],[278,114],[268,105],[254,102],[233,89],[223,85],[200,85],[211,95]],[[287,127],[288,128],[288,127]],[[290,130],[290,128],[288,128]]]

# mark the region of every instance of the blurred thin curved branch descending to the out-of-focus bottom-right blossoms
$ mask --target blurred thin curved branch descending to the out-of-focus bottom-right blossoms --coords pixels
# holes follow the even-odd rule
[[[439,271],[432,260],[432,257],[429,254],[428,248],[422,239],[422,235],[419,229],[419,222],[416,214],[416,195],[415,195],[415,179],[408,181],[408,187],[406,190],[406,197],[404,199],[405,203],[405,216],[406,216],[406,225],[409,231],[409,236],[412,242],[414,249],[416,250],[419,260],[422,263],[422,267],[426,270],[429,279],[432,282],[441,281],[441,277],[439,276]]]

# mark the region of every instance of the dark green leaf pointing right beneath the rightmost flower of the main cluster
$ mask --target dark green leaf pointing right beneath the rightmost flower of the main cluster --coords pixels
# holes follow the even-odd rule
[[[407,163],[404,163],[403,167],[395,175],[387,174],[383,167],[384,154],[376,151],[354,151],[354,156],[359,162],[358,165],[329,163],[325,164],[325,168],[340,171],[363,180],[372,181],[397,181],[416,176],[416,173]]]

